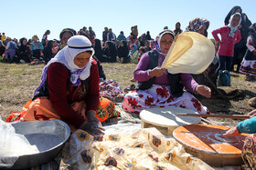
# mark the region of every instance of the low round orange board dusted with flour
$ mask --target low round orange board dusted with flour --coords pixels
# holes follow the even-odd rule
[[[247,135],[238,135],[237,143],[225,143],[216,139],[216,134],[228,129],[229,127],[222,125],[183,125],[174,130],[173,136],[185,146],[187,153],[197,156],[208,165],[241,165],[241,148]]]

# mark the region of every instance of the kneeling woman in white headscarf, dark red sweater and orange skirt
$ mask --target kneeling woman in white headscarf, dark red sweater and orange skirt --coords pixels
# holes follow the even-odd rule
[[[99,72],[94,49],[83,35],[69,38],[68,45],[45,66],[33,102],[21,120],[65,121],[72,132],[82,129],[101,135],[98,118]]]

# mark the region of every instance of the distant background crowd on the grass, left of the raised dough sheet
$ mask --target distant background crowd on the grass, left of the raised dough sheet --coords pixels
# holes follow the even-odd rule
[[[131,28],[131,35],[127,37],[123,31],[116,36],[112,32],[112,28],[105,27],[102,32],[102,40],[96,38],[91,26],[89,30],[85,26],[79,31],[70,30],[73,35],[84,35],[90,39],[91,44],[94,45],[95,56],[100,62],[138,63],[141,55],[154,48],[154,39],[151,38],[149,31],[138,37],[136,25]],[[48,40],[49,34],[50,30],[47,30],[41,41],[37,35],[33,35],[28,40],[23,37],[18,41],[3,33],[0,35],[0,55],[5,63],[45,63],[47,65],[48,61],[67,43],[65,37],[60,36],[59,40]]]

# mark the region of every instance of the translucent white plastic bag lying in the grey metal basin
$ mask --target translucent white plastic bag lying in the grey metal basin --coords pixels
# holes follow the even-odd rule
[[[0,116],[0,167],[12,167],[20,155],[38,153],[36,145],[30,145],[24,135],[16,134],[15,128]]]

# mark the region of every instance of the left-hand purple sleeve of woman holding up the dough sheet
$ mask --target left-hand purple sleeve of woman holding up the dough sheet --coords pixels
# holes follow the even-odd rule
[[[150,75],[147,75],[147,65],[148,65],[148,63],[149,63],[149,55],[148,55],[148,53],[145,53],[141,57],[135,71],[133,72],[133,78],[136,81],[144,82],[144,81],[147,81],[150,78],[152,78]]]

